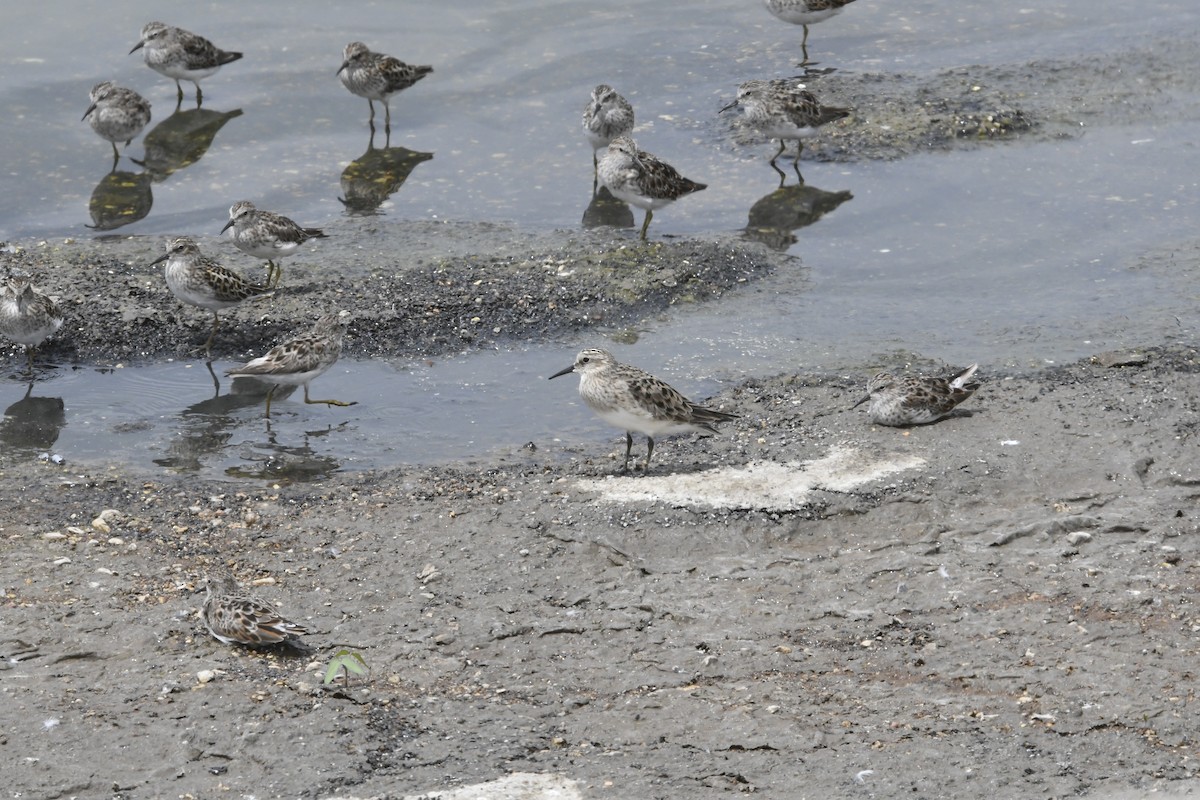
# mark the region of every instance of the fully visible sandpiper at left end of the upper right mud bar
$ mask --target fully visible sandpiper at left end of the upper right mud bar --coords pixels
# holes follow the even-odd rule
[[[788,139],[796,139],[798,163],[804,150],[803,139],[816,136],[822,125],[850,115],[848,108],[822,106],[804,84],[788,80],[748,80],[738,86],[738,98],[721,110],[734,106],[742,108],[746,122],[764,136],[779,139],[779,150],[770,158],[773,167]]]

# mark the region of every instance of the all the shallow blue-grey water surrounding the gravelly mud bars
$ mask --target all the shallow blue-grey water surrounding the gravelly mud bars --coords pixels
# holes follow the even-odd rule
[[[343,200],[360,198],[382,200],[377,212],[385,223],[577,229],[592,181],[578,115],[599,82],[635,104],[642,146],[709,184],[656,215],[652,233],[736,231],[778,179],[763,163],[772,145],[732,156],[715,113],[738,82],[793,73],[800,32],[757,0],[522,2],[503,10],[457,2],[436,13],[398,4],[296,2],[282,17],[270,4],[215,2],[181,7],[168,22],[246,58],[204,82],[203,113],[185,102],[172,116],[173,83],[138,54],[126,55],[142,24],[164,16],[160,4],[60,8],[76,13],[48,22],[41,8],[14,6],[0,29],[0,100],[7,109],[0,235],[8,239],[214,236],[238,199],[326,227],[353,211]],[[814,26],[810,53],[846,72],[919,76],[1145,46],[1160,36],[1194,36],[1200,22],[1182,0],[1152,11],[1129,14],[1115,0],[1030,8],[859,0]],[[390,150],[383,131],[371,149],[366,103],[334,74],[352,40],[434,66],[394,98]],[[108,176],[108,144],[79,121],[88,90],[102,79],[145,95],[154,104],[151,128],[163,126],[133,142],[115,178]],[[1181,97],[1178,106],[1194,109],[1196,102]],[[1182,116],[895,162],[805,162],[810,187],[853,198],[794,233],[794,270],[727,294],[719,305],[649,320],[636,343],[614,349],[704,396],[720,385],[709,377],[734,381],[785,369],[859,368],[907,354],[979,361],[984,369],[1068,361],[1162,341],[1176,317],[1178,333],[1190,336],[1194,303],[1187,297],[1194,289],[1189,295],[1168,273],[1133,269],[1140,254],[1194,236],[1195,114]],[[192,140],[203,146],[170,149],[173,132],[198,128],[205,134]],[[389,175],[385,199],[358,193],[355,169],[367,167]],[[124,218],[89,209],[104,181],[109,197],[116,191],[124,198]],[[126,224],[88,227],[115,222]],[[313,393],[336,385],[360,404],[326,409],[289,401],[272,422],[274,440],[296,449],[289,457],[298,463],[308,458],[306,446],[318,453],[296,468],[318,475],[467,458],[556,434],[604,440],[612,432],[578,407],[574,386],[562,385],[574,379],[523,390],[596,338],[428,367],[338,365],[337,380],[318,380]],[[136,410],[131,391],[139,392]],[[264,463],[287,461],[272,449],[257,409],[185,411],[211,392],[210,377],[196,363],[112,373],[59,368],[35,387],[37,396],[64,398],[66,423],[54,449],[68,459],[230,475],[266,475]],[[7,402],[16,402],[24,386],[13,383],[8,393]]]

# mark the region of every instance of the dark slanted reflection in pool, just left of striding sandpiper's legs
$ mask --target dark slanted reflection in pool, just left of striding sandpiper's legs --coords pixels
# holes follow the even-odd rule
[[[229,446],[238,427],[245,421],[236,414],[244,408],[263,404],[269,386],[256,380],[234,380],[229,392],[221,393],[221,380],[205,363],[212,378],[212,397],[192,403],[179,413],[179,435],[172,438],[167,455],[154,463],[182,473],[194,473],[204,467],[209,457],[220,456]],[[287,391],[283,391],[286,389]],[[295,386],[281,387],[280,396],[295,391]]]

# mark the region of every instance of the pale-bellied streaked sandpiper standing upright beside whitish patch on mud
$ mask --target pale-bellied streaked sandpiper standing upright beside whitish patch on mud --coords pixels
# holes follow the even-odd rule
[[[607,350],[588,349],[575,357],[575,363],[550,377],[551,380],[569,372],[580,375],[580,397],[596,415],[625,432],[625,461],[634,447],[634,431],[646,434],[646,465],[650,468],[654,438],[668,433],[718,433],[715,425],[737,419],[715,409],[692,403],[654,375],[620,363]]]

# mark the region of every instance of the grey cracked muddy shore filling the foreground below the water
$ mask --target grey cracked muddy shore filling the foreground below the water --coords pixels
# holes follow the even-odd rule
[[[1133,356],[991,375],[970,414],[908,432],[848,410],[860,386],[835,375],[746,381],[716,398],[740,420],[667,440],[647,476],[611,475],[617,437],[280,487],[8,468],[14,784],[1194,790],[1200,354]],[[899,457],[919,463],[871,471]],[[763,463],[791,465],[791,507],[672,500]],[[310,649],[209,637],[214,563],[319,630]],[[370,676],[324,687],[346,646]]]

